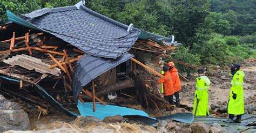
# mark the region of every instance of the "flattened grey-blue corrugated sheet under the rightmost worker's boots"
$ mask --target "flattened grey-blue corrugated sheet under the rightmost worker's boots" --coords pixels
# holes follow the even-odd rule
[[[251,123],[256,122],[256,117],[251,114],[244,114],[242,115],[242,122],[241,123],[226,123],[224,120],[227,118],[223,117],[213,117],[213,116],[196,116],[194,119],[194,122],[200,121],[203,122],[206,125],[211,125],[213,123],[218,123],[221,126],[223,126],[224,129],[227,130],[227,132],[241,132],[248,127],[247,125]]]

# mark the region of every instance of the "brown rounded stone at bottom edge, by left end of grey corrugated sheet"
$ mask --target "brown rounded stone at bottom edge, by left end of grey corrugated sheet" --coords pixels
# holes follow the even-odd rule
[[[197,133],[209,132],[209,127],[207,127],[207,125],[205,125],[203,122],[194,122],[190,125],[190,128],[192,132],[197,132]]]

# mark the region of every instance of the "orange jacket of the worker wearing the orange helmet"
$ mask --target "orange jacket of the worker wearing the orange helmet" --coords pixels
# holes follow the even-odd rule
[[[169,72],[171,73],[174,92],[178,92],[181,89],[178,70],[176,68],[172,68]]]

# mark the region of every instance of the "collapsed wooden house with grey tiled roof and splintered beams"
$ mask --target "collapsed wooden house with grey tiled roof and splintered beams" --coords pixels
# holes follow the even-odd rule
[[[0,27],[0,90],[43,108],[51,109],[50,104],[68,115],[74,113],[64,105],[92,101],[95,112],[96,101],[106,105],[116,92],[134,101],[129,88],[136,88],[138,80],[131,76],[144,75],[145,80],[139,79],[145,83],[140,85],[143,89],[156,86],[149,73],[134,71],[143,68],[163,77],[158,69],[164,65],[161,59],[178,45],[174,36],[165,38],[124,25],[81,2],[21,16],[7,11],[7,15],[11,22]],[[149,97],[135,101],[158,111],[173,109],[156,88],[150,89],[133,90]]]

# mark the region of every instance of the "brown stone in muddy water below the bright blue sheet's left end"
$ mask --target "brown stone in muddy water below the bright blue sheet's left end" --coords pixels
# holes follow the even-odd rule
[[[95,116],[77,116],[77,118],[73,121],[73,124],[80,127],[85,127],[86,125],[90,124],[97,124],[102,122],[102,120],[97,119]]]

